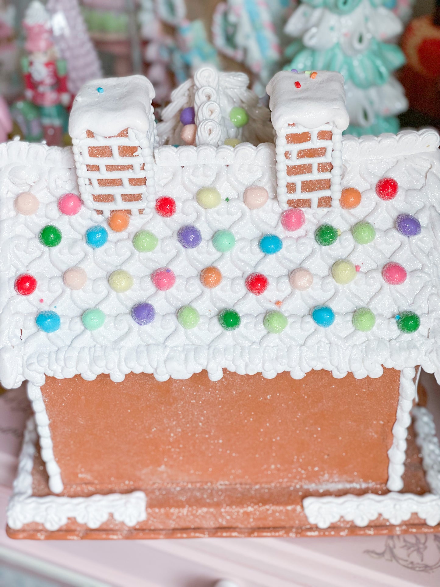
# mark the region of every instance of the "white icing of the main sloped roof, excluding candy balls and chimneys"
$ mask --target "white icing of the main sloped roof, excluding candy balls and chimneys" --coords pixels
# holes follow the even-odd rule
[[[170,218],[154,210],[132,217],[124,232],[112,232],[105,219],[82,207],[75,216],[60,214],[57,199],[77,192],[75,166],[70,149],[39,144],[0,145],[0,380],[6,387],[23,379],[40,385],[45,376],[72,377],[80,373],[94,379],[110,373],[120,381],[129,372],[154,373],[158,380],[184,379],[207,369],[212,379],[222,369],[241,374],[262,372],[275,377],[288,370],[300,378],[311,369],[327,369],[334,377],[353,372],[356,377],[378,377],[383,366],[403,369],[421,365],[440,379],[440,156],[439,137],[433,130],[405,131],[397,136],[343,139],[343,187],[361,191],[361,204],[353,210],[319,208],[305,210],[306,223],[296,232],[280,224],[282,210],[276,200],[275,147],[249,144],[231,147],[164,146],[155,153],[158,197],[171,195],[177,211]],[[380,178],[397,180],[394,200],[383,201],[375,194]],[[249,210],[243,191],[249,185],[266,187],[269,201]],[[195,200],[200,187],[215,185],[222,202],[204,210]],[[13,201],[31,190],[40,206],[36,214],[17,214]],[[229,198],[229,201],[226,201]],[[401,212],[415,215],[421,234],[405,237],[395,228]],[[361,220],[373,224],[376,238],[357,244],[351,233]],[[329,222],[340,229],[336,243],[322,247],[314,239],[317,225]],[[43,247],[39,231],[47,224],[62,232],[57,247]],[[199,228],[201,244],[183,248],[177,232],[183,225]],[[104,247],[90,248],[84,239],[87,228],[106,227],[109,240]],[[225,254],[215,250],[212,235],[231,230],[236,238]],[[133,247],[138,230],[154,232],[159,244],[153,252],[140,253]],[[264,234],[278,235],[283,248],[264,255],[258,246]],[[331,266],[339,259],[359,265],[348,285],[337,284]],[[381,275],[388,261],[407,270],[402,285],[391,286]],[[216,265],[221,284],[202,286],[202,268]],[[72,291],[63,284],[63,272],[79,266],[86,271],[83,289]],[[168,291],[155,289],[151,274],[159,267],[174,271],[176,283]],[[289,284],[289,274],[299,266],[308,268],[314,281],[300,292]],[[108,278],[116,269],[133,276],[133,286],[124,293],[110,288]],[[245,288],[251,272],[262,272],[269,280],[266,292],[255,296]],[[23,272],[35,276],[38,286],[29,296],[14,291],[14,281]],[[156,317],[138,326],[130,312],[137,302],[151,303]],[[279,302],[277,305],[276,302]],[[177,310],[185,304],[198,309],[199,325],[185,330]],[[336,319],[330,328],[313,322],[314,306],[329,305]],[[370,332],[354,329],[353,312],[368,307],[376,323]],[[86,309],[100,308],[104,325],[84,329],[81,316]],[[234,308],[241,326],[225,331],[218,322],[224,308]],[[60,329],[39,330],[39,311],[52,310],[60,316]],[[288,325],[279,335],[263,326],[268,311],[279,309]],[[398,330],[395,315],[417,312],[421,326],[412,334]]]

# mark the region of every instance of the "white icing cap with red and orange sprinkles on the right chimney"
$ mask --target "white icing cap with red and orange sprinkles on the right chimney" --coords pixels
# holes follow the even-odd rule
[[[296,87],[299,82],[301,87]],[[344,78],[338,72],[309,73],[282,71],[272,77],[266,92],[270,96],[272,124],[277,131],[290,123],[316,129],[327,122],[339,130],[348,127]]]

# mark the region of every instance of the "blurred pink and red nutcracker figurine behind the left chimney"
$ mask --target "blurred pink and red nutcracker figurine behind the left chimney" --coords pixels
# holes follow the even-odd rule
[[[28,104],[22,103],[21,109],[33,122],[38,114],[40,121],[39,131],[34,128],[26,139],[39,140],[40,135],[48,145],[60,146],[72,97],[67,90],[66,62],[58,58],[50,16],[39,0],[33,0],[26,10],[23,28],[28,55],[22,59],[22,71]]]

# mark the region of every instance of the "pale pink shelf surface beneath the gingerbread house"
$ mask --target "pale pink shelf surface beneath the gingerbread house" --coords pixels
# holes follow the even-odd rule
[[[428,407],[440,430],[440,391]],[[13,541],[5,510],[23,426],[31,413],[23,388],[0,396],[0,565],[33,569],[80,587],[438,587],[440,535],[353,538],[212,538],[158,541]],[[11,562],[11,564],[12,564]]]

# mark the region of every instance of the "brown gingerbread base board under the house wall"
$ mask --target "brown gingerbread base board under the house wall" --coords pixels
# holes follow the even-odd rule
[[[424,410],[424,409],[419,409]],[[427,410],[424,411],[425,418],[428,414],[428,419],[431,417]],[[32,423],[31,423],[32,424]],[[310,489],[307,491],[295,490],[289,487],[244,487],[224,486],[224,487],[157,487],[154,490],[148,489],[144,492],[138,491],[137,494],[142,498],[146,497],[146,506],[144,502],[138,502],[141,507],[140,521],[137,523],[121,521],[124,517],[119,515],[119,521],[116,519],[118,515],[110,514],[104,516],[102,523],[94,523],[95,527],[90,528],[88,524],[81,523],[81,515],[76,514],[76,518],[69,517],[64,511],[65,523],[59,524],[56,529],[48,529],[53,518],[59,517],[62,510],[62,504],[66,504],[64,497],[56,497],[50,493],[47,485],[47,476],[45,468],[42,466],[42,461],[38,453],[38,447],[31,443],[32,426],[26,429],[27,440],[25,435],[25,444],[23,445],[23,452],[19,472],[23,474],[25,470],[25,448],[28,446],[28,457],[32,460],[29,464],[27,481],[25,483],[15,484],[15,494],[11,500],[8,511],[8,519],[16,519],[13,517],[13,507],[20,507],[20,500],[28,500],[28,508],[32,510],[33,521],[21,525],[19,528],[7,528],[9,537],[17,539],[151,539],[151,538],[202,538],[202,537],[312,537],[312,536],[347,536],[347,535],[392,535],[392,534],[410,534],[410,533],[427,533],[439,532],[440,515],[435,523],[427,524],[424,518],[419,517],[416,512],[408,517],[402,517],[402,522],[392,524],[387,518],[378,514],[375,519],[370,519],[368,525],[354,524],[353,521],[340,518],[333,522],[329,527],[323,528],[313,524],[307,518],[306,512],[303,508],[304,497],[324,497],[324,495],[344,496],[347,493],[351,495],[357,494],[362,496],[363,491],[360,489],[350,488],[350,490],[334,491],[320,491]],[[31,436],[29,436],[31,434]],[[32,437],[35,443],[35,435]],[[419,436],[420,438],[420,436]],[[422,466],[422,457],[419,454],[419,448],[415,441],[414,428],[411,426],[408,430],[408,448],[407,460],[405,461],[405,475],[404,475],[404,489],[402,494],[407,494],[409,497],[416,499],[424,499],[427,497],[434,500],[434,511],[440,509],[440,498],[429,493],[427,481],[425,479],[424,468]],[[420,443],[419,443],[420,445]],[[35,450],[37,450],[35,452]],[[423,450],[422,450],[423,452]],[[26,473],[26,471],[25,471]],[[31,475],[29,475],[31,473]],[[20,474],[20,473],[19,473]],[[17,488],[29,483],[32,476],[33,494],[29,492],[26,495],[23,492],[20,494]],[[19,480],[19,478],[18,478]],[[23,477],[22,477],[23,480]],[[377,495],[380,494],[380,495]],[[387,495],[404,497],[402,494],[390,494],[386,490],[375,490],[374,497],[386,498]],[[130,494],[113,494],[119,495],[119,498],[126,499]],[[133,495],[133,494],[131,494]],[[422,496],[424,496],[422,498]],[[100,496],[93,496],[100,497]],[[74,500],[82,500],[82,504],[86,504],[86,508],[90,508],[90,501],[92,498],[73,498]],[[111,498],[111,495],[105,496]],[[371,494],[367,497],[371,497]],[[55,500],[54,500],[55,498]],[[46,527],[41,522],[41,512],[38,511],[39,500],[52,500],[50,507],[46,510]],[[356,497],[354,497],[356,500]],[[13,504],[15,500],[15,504]],[[69,500],[69,498],[67,498]],[[70,498],[72,500],[72,498]],[[23,501],[21,502],[23,503]],[[41,503],[41,501],[40,501]],[[79,502],[75,502],[78,504]],[[59,511],[57,511],[57,505]],[[102,504],[101,504],[102,505]],[[356,510],[355,506],[355,510]],[[428,508],[428,509],[427,509]],[[425,512],[431,508],[431,502],[425,505]],[[113,511],[117,512],[117,507],[113,505]],[[67,510],[68,511],[68,510]],[[417,510],[418,511],[418,510]],[[310,517],[310,515],[309,515]],[[39,519],[39,522],[35,520]],[[62,519],[62,518],[61,518]],[[84,519],[84,514],[83,514]],[[93,517],[92,517],[93,519]],[[48,524],[49,520],[49,524]],[[79,520],[79,521],[78,521]]]

